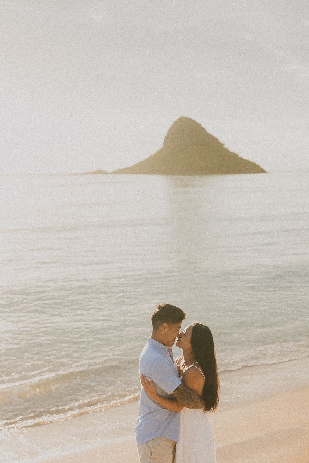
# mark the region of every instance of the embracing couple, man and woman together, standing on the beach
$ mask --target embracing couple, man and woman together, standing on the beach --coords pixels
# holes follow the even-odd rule
[[[213,338],[201,323],[180,332],[185,316],[171,304],[158,304],[151,316],[152,333],[139,360],[142,390],[135,431],[140,463],[216,463],[206,415],[218,404]],[[183,355],[174,361],[176,338]]]

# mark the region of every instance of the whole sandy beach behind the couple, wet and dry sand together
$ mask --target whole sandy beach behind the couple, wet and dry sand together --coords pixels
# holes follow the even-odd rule
[[[309,461],[309,358],[221,375],[221,402],[209,413],[218,463]],[[242,395],[237,390],[246,390]],[[138,463],[138,401],[63,422],[7,429],[0,461]]]

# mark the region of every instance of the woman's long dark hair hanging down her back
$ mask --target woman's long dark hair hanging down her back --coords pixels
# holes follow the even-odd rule
[[[215,347],[212,334],[208,326],[202,323],[193,323],[191,333],[192,353],[201,365],[205,375],[203,399],[205,412],[216,410],[219,402],[219,376],[216,363]]]

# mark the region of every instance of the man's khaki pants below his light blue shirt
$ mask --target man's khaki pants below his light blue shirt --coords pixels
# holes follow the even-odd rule
[[[176,442],[156,437],[145,444],[137,444],[141,463],[174,463]]]

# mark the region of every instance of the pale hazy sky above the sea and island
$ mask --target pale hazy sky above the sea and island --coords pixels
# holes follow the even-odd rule
[[[129,166],[196,119],[309,167],[307,0],[1,0],[0,173]]]

